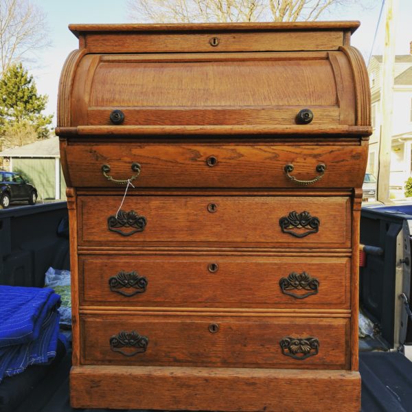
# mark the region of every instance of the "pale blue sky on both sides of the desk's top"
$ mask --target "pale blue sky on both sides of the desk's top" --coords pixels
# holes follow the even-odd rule
[[[409,54],[412,41],[412,0],[398,0],[398,31],[396,53]],[[130,23],[126,0],[32,0],[48,17],[52,46],[39,52],[38,62],[30,72],[34,75],[39,93],[49,95],[47,113],[56,114],[58,80],[65,58],[78,48],[78,39],[71,34],[69,23]],[[359,20],[361,27],[352,36],[352,45],[369,56],[374,38],[381,0],[358,0],[356,5],[334,9],[323,20]],[[383,24],[380,25],[374,54],[382,53]]]

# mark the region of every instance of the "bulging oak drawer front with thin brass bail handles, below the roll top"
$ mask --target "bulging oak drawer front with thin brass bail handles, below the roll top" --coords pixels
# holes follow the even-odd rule
[[[108,165],[113,179],[136,176],[136,187],[333,188],[362,186],[367,146],[118,142],[69,144],[65,153],[74,187],[119,187],[104,176],[102,167]],[[293,165],[290,177],[286,165]]]

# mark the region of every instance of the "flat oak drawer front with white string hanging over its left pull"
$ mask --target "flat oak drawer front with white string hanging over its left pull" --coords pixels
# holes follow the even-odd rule
[[[350,198],[80,196],[80,245],[350,247]]]

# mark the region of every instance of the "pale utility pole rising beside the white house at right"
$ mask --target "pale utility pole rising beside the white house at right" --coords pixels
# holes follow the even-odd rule
[[[382,203],[389,199],[389,174],[391,172],[393,73],[395,69],[395,33],[398,0],[386,0],[385,49],[383,52],[382,94],[380,95],[382,127],[379,144],[378,196]]]

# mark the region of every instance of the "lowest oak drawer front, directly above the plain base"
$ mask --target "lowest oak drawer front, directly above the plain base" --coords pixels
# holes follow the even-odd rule
[[[349,319],[83,315],[82,363],[346,369]]]

